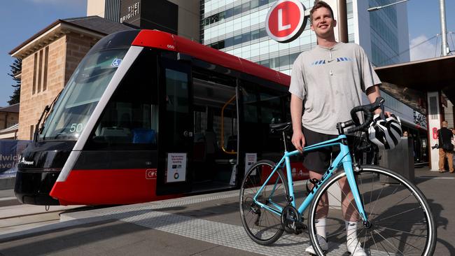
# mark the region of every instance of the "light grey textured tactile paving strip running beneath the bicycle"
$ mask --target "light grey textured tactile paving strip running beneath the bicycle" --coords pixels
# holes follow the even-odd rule
[[[119,206],[114,209],[104,208],[99,215],[109,216],[116,220],[133,223],[163,232],[186,236],[191,239],[227,246],[239,250],[246,250],[262,255],[307,255],[304,249],[309,246],[308,234],[299,236],[283,234],[281,239],[272,246],[260,246],[254,243],[241,226],[229,225],[221,222],[190,218],[183,215],[165,213],[160,208],[197,204],[203,201],[237,197],[238,192],[221,194],[209,197],[190,197],[160,202],[151,202],[134,206]],[[108,210],[109,211],[106,211]],[[158,211],[157,211],[158,210]],[[329,243],[328,255],[346,255],[346,246]],[[381,252],[372,252],[371,255],[384,255]]]

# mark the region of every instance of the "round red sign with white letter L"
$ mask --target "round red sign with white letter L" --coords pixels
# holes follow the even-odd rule
[[[267,34],[279,43],[288,43],[302,34],[307,19],[305,6],[298,0],[278,0],[265,18]]]

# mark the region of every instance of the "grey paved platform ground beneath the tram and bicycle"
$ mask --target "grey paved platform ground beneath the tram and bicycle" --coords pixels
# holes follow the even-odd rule
[[[455,175],[425,167],[415,174],[437,222],[435,255],[455,255]],[[56,223],[0,229],[0,255],[304,255],[306,233],[286,234],[274,246],[251,241],[241,226],[238,193],[64,211]],[[329,255],[348,255],[344,250]]]

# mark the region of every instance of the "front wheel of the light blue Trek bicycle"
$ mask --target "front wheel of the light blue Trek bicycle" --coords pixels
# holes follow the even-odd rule
[[[435,221],[422,192],[400,174],[380,166],[363,166],[355,176],[368,222],[363,222],[357,210],[346,173],[335,173],[318,190],[309,210],[309,234],[318,255],[325,253],[316,236],[324,232],[318,227],[324,218],[329,251],[433,255]]]

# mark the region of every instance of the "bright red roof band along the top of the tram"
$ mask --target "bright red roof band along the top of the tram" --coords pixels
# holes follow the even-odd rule
[[[290,84],[290,76],[284,73],[235,57],[221,50],[195,43],[181,36],[158,30],[141,30],[132,45],[174,50],[175,52],[191,55],[197,59],[258,76],[281,85],[289,86]]]

